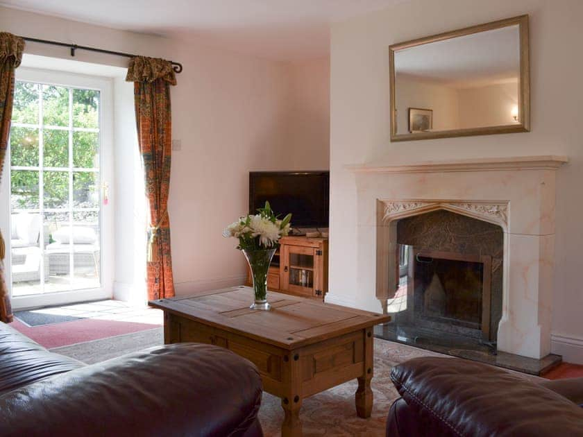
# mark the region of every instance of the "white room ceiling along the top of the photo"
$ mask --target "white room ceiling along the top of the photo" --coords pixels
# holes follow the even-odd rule
[[[408,0],[0,0],[0,5],[273,60],[328,55],[330,23]]]

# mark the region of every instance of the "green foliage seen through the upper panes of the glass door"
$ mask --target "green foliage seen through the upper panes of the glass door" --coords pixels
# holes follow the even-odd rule
[[[69,131],[51,128],[98,129],[99,91],[72,89],[54,85],[39,85],[17,81],[12,110],[13,123],[34,125],[13,126],[10,131],[10,164],[20,167],[37,167],[40,160],[40,95],[43,114],[43,162],[45,167],[69,166]],[[72,120],[69,118],[72,114]],[[72,134],[73,165],[75,169],[99,167],[99,132],[85,130]],[[39,173],[35,169],[19,169],[11,172],[12,208],[33,209],[39,207]],[[99,191],[99,173],[75,171],[73,200],[75,207],[97,207],[95,193]],[[44,172],[44,203],[47,207],[64,207],[69,199],[68,173]]]

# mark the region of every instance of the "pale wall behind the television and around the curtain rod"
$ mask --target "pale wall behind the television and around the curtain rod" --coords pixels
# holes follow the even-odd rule
[[[173,154],[169,198],[179,295],[243,282],[245,264],[235,250],[236,241],[223,239],[221,233],[246,212],[248,171],[328,168],[328,128],[321,127],[326,125],[326,114],[314,115],[321,123],[301,114],[302,108],[326,112],[326,103],[321,103],[327,101],[323,96],[328,88],[324,62],[294,67],[210,49],[198,41],[117,31],[2,7],[0,29],[182,62],[178,86],[171,89],[173,138],[180,139],[182,147]],[[26,53],[70,58],[68,49],[44,44],[29,43]],[[77,52],[76,59],[119,67],[128,62],[83,51]],[[312,80],[310,71],[318,72],[317,80]],[[297,104],[292,103],[294,92],[300,92]],[[292,144],[299,145],[290,160],[292,112],[298,126]],[[312,135],[317,138],[312,140]],[[124,137],[116,141],[119,147],[135,146]],[[140,244],[136,236],[133,241]],[[125,276],[118,269],[116,280],[126,284],[124,293],[128,291]]]

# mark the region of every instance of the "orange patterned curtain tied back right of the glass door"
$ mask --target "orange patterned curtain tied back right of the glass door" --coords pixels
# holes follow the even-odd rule
[[[134,83],[135,118],[150,205],[148,298],[174,296],[170,255],[168,191],[171,160],[170,85],[176,75],[169,61],[137,56],[126,80]]]

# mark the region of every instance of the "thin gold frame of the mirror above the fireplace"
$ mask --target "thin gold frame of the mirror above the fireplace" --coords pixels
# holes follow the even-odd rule
[[[520,38],[520,88],[518,91],[518,123],[503,126],[486,126],[481,128],[465,128],[441,130],[438,132],[419,132],[419,133],[397,133],[397,112],[395,98],[395,52],[409,47],[421,46],[430,42],[449,40],[450,38],[471,35],[494,29],[518,25],[518,34]],[[496,22],[478,24],[457,31],[439,33],[429,37],[418,38],[416,40],[400,42],[389,46],[389,75],[390,75],[390,92],[391,92],[391,142],[412,141],[416,139],[435,139],[451,137],[469,137],[472,135],[493,135],[513,132],[530,131],[530,67],[529,67],[529,31],[528,15],[520,15],[507,19],[501,19]]]

